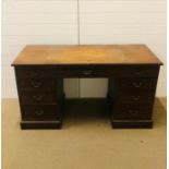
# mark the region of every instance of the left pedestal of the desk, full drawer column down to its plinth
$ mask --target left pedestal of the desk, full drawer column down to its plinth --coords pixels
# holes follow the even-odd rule
[[[61,128],[62,80],[52,69],[41,67],[15,68],[22,129]]]

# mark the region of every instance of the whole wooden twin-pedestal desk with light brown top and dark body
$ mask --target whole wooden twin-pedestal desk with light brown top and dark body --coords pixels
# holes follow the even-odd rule
[[[21,128],[62,128],[63,79],[69,77],[108,79],[112,128],[152,128],[161,64],[144,45],[26,46],[12,63]]]

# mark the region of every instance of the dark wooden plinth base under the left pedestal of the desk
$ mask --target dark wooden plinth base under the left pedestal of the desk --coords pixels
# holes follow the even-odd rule
[[[21,129],[62,129],[61,121],[22,121]]]

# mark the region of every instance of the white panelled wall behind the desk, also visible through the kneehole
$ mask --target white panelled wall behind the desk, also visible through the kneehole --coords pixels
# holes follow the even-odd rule
[[[76,0],[2,1],[2,97],[17,97],[11,62],[28,44],[76,45]],[[157,96],[166,96],[166,1],[80,0],[81,44],[146,44],[165,63]],[[107,80],[65,80],[68,97],[104,97]],[[96,87],[97,86],[97,87]]]

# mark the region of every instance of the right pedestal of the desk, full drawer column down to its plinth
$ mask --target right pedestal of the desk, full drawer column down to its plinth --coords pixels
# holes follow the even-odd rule
[[[112,110],[113,128],[152,126],[152,112],[159,68],[121,67]]]

